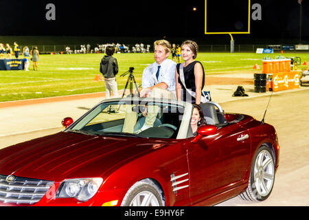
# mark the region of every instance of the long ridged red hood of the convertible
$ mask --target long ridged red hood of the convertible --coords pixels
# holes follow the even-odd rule
[[[52,181],[98,177],[164,143],[168,144],[146,138],[60,132],[3,148],[0,175]]]

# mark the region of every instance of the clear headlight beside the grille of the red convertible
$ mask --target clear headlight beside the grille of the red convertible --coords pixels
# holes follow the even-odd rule
[[[102,181],[102,178],[65,179],[56,192],[56,198],[76,198],[79,201],[87,201],[95,195]]]

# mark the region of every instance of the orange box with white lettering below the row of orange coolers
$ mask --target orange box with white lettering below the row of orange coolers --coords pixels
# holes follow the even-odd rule
[[[283,72],[273,74],[272,89],[273,91],[282,91],[286,89],[299,88],[299,72]]]

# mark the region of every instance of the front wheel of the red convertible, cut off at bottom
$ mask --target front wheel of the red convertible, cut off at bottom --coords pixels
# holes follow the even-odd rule
[[[159,187],[150,179],[143,179],[126,192],[121,206],[165,206],[165,201]]]

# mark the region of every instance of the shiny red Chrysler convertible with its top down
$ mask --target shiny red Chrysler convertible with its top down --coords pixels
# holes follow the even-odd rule
[[[158,109],[154,125],[136,133],[150,107]],[[190,103],[104,100],[76,122],[63,120],[60,133],[3,148],[0,205],[211,206],[236,195],[266,199],[279,164],[273,126],[225,113],[215,102],[201,107],[207,125],[194,135]]]

